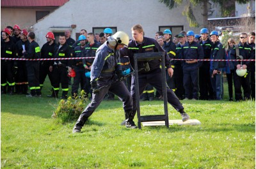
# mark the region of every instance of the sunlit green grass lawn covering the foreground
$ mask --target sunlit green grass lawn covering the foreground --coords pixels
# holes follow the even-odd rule
[[[73,134],[75,122],[51,118],[49,89],[1,96],[1,168],[255,168],[255,101],[181,101],[201,125],[142,129],[120,126],[121,101],[103,101]],[[163,101],[141,102],[141,114],[163,114]]]

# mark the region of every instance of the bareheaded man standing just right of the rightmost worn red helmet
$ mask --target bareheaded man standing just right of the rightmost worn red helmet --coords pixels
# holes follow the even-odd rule
[[[66,43],[66,37],[60,35],[59,44],[54,48],[54,58],[67,58],[72,55],[71,47]],[[60,83],[62,89],[61,99],[67,99],[68,94],[68,71],[72,70],[70,60],[54,60],[51,62],[52,71],[52,98],[58,98]]]

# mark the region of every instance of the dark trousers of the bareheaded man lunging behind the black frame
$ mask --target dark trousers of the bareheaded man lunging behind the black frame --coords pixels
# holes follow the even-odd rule
[[[163,95],[163,77],[162,77],[160,68],[157,70],[151,71],[148,74],[140,74],[139,75],[139,92],[140,92],[140,94],[143,92],[143,90],[145,89],[147,84],[150,84],[153,87],[155,87],[156,90],[159,91],[159,93],[161,95]],[[131,94],[132,94],[132,102],[133,102],[132,114],[135,115],[136,111],[137,111],[137,106],[136,106],[136,86],[135,86],[134,75],[132,75]],[[174,94],[174,92],[171,89],[167,89],[167,101],[177,111],[184,109],[184,107],[182,107],[179,99],[177,98],[177,96]]]

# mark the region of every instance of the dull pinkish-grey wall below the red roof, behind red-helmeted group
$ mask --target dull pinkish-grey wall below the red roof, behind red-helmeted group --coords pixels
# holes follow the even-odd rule
[[[28,29],[36,23],[36,11],[54,11],[56,8],[1,8],[1,30],[6,26],[19,25]]]

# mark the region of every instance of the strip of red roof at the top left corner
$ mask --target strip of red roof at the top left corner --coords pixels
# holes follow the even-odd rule
[[[38,6],[62,6],[68,0],[1,0],[1,7],[38,7]]]

